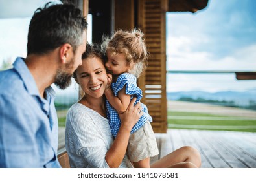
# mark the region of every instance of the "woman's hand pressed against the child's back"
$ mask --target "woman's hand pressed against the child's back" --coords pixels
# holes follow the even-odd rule
[[[119,118],[121,120],[121,125],[124,125],[128,129],[132,130],[132,127],[138,122],[139,118],[143,115],[141,111],[141,103],[137,103],[134,105],[136,98],[134,97],[126,111],[122,114],[119,114]]]

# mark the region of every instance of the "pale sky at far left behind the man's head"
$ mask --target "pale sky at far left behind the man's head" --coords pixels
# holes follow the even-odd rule
[[[0,0],[0,66],[3,59],[27,56],[27,33],[34,11],[49,0]],[[52,3],[60,3],[52,0]]]

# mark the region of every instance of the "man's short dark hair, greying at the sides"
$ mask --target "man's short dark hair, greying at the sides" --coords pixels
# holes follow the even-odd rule
[[[71,4],[47,3],[36,10],[30,21],[27,54],[46,54],[65,43],[76,52],[86,29],[87,22],[80,9]]]

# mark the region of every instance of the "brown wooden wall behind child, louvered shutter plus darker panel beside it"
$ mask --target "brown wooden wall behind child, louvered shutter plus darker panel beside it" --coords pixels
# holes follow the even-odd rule
[[[138,79],[143,90],[141,102],[153,118],[155,133],[167,132],[166,98],[166,12],[168,0],[115,1],[115,30],[138,27],[145,34],[150,52],[146,72]]]

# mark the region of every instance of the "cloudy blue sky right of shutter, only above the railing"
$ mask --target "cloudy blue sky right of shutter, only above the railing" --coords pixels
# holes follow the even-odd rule
[[[215,0],[196,14],[168,13],[167,70],[256,67],[256,13],[251,6],[256,1]]]

